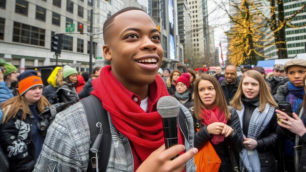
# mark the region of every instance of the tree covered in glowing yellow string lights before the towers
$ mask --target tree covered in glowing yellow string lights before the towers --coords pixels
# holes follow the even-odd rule
[[[260,52],[263,47],[280,44],[271,42],[274,34],[262,31],[267,25],[262,22],[261,13],[255,11],[252,2],[242,0],[236,16],[229,15],[235,25],[225,32],[229,40],[227,57],[235,66],[256,64],[259,58],[268,57]]]

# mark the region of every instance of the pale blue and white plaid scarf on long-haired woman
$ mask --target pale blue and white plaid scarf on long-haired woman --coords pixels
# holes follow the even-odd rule
[[[247,136],[243,134],[243,137],[257,140],[267,124],[271,121],[274,114],[274,107],[266,103],[262,113],[259,111],[260,106],[256,107],[248,128]],[[236,110],[239,116],[241,129],[243,128],[243,113],[244,105],[242,104],[241,110]],[[246,114],[249,115],[249,114]],[[245,148],[239,153],[240,156],[240,170],[247,170],[248,172],[261,172],[261,163],[258,157],[257,149],[247,150]]]

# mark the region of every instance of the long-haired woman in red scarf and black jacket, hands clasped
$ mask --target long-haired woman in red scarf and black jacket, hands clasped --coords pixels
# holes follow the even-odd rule
[[[227,143],[233,149],[236,162],[242,149],[242,133],[235,109],[227,106],[218,80],[210,74],[196,79],[194,90],[195,147],[201,149],[207,142],[215,148],[221,165],[219,172],[228,172],[232,167]],[[229,110],[231,109],[231,111]]]

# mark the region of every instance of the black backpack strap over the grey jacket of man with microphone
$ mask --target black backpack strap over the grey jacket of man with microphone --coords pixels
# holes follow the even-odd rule
[[[98,152],[98,168],[100,172],[105,172],[108,162],[109,162],[109,153],[110,153],[110,143],[111,143],[111,133],[109,127],[109,118],[107,111],[103,108],[102,102],[99,98],[90,95],[86,98],[83,98],[80,101],[86,112],[87,122],[89,125],[90,131],[90,148],[92,147],[97,135],[100,133],[100,128],[96,126],[97,123],[102,124],[102,141],[99,147]],[[96,171],[96,156],[95,153],[89,151],[89,164],[87,172]]]

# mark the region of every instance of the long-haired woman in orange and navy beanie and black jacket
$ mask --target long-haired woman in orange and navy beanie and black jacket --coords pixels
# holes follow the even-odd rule
[[[50,103],[42,96],[44,85],[36,71],[20,74],[18,81],[19,96],[1,104],[0,145],[10,172],[30,172],[44,144],[45,119],[39,114]]]

